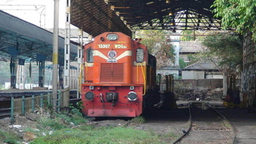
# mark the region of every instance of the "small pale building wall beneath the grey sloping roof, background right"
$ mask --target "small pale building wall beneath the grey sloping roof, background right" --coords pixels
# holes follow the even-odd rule
[[[181,76],[183,80],[187,80],[187,79],[205,79],[205,72],[204,71],[195,71],[195,70],[191,70],[191,71],[182,71],[181,72]]]

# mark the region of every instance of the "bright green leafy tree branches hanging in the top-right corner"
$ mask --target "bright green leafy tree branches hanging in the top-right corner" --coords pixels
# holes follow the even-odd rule
[[[250,31],[256,41],[256,0],[215,0],[212,7],[223,29],[236,29],[240,34]]]

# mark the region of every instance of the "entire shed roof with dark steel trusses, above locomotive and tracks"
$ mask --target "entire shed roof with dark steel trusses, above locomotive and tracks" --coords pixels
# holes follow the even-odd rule
[[[71,23],[92,36],[134,29],[219,30],[214,0],[72,0]],[[129,29],[128,29],[129,28]]]

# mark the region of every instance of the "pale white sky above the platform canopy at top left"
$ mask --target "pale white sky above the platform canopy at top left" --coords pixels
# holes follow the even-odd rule
[[[66,0],[59,0],[59,28],[65,28]],[[42,28],[53,28],[53,0],[0,0],[0,10]]]

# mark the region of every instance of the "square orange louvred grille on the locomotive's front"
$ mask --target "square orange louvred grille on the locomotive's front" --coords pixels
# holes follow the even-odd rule
[[[124,82],[124,64],[101,64],[100,82]]]

